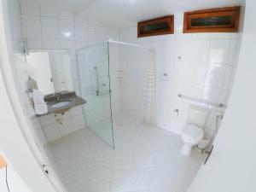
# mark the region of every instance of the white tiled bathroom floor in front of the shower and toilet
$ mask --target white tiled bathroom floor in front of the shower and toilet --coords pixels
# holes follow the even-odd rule
[[[49,144],[55,171],[68,192],[185,192],[203,155],[180,154],[180,137],[120,115],[115,150],[83,129]]]

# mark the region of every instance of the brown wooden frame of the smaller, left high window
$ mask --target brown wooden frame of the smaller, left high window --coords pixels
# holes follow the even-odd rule
[[[165,30],[158,30],[157,32],[148,32],[145,34],[141,33],[141,29],[143,26],[160,23],[160,22],[167,22],[169,28]],[[143,20],[137,23],[137,38],[144,38],[149,36],[157,36],[157,35],[166,35],[166,34],[174,34],[174,15],[168,15],[164,17],[159,17],[153,20]]]

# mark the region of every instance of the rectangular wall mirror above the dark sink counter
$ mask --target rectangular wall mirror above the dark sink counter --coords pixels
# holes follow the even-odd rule
[[[28,77],[37,82],[44,95],[74,90],[69,50],[29,50],[26,62]]]

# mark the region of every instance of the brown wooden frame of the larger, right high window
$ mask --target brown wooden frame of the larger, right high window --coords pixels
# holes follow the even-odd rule
[[[240,20],[240,6],[203,9],[185,12],[183,17],[183,33],[193,32],[238,32]],[[191,26],[191,19],[204,18],[208,16],[231,16],[231,25],[226,26]]]

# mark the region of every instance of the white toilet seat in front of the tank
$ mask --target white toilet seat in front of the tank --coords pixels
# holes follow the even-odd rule
[[[189,143],[199,143],[204,137],[204,132],[195,125],[184,125],[182,131],[183,140]]]

